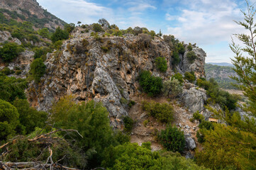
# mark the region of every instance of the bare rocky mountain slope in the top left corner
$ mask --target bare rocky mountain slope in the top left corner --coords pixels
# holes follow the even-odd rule
[[[4,20],[6,18],[6,20]],[[11,24],[11,20],[17,22],[28,21],[33,23],[34,29],[57,27],[64,28],[65,21],[43,9],[35,0],[0,0],[1,23]]]

